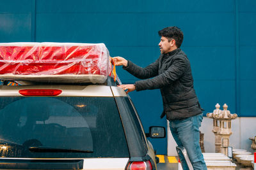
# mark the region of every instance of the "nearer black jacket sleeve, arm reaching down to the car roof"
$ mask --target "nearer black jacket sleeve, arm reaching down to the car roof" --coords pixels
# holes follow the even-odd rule
[[[184,56],[177,56],[173,60],[173,63],[166,71],[150,78],[147,80],[140,80],[135,82],[135,87],[137,91],[140,90],[151,90],[151,89],[161,89],[166,85],[172,84],[173,81],[178,80],[182,74],[186,71],[188,66],[188,59]]]

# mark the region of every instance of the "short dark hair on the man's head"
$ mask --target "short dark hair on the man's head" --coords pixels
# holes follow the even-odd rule
[[[164,36],[168,38],[169,41],[171,39],[175,39],[177,48],[180,48],[180,45],[183,41],[183,32],[178,27],[166,27],[160,31],[158,31],[159,36]]]

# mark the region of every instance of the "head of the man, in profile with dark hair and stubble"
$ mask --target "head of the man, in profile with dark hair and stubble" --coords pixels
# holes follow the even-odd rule
[[[176,48],[180,48],[183,41],[183,32],[178,27],[166,27],[158,31],[161,36],[159,48],[161,53],[172,52]]]

